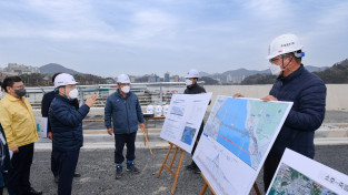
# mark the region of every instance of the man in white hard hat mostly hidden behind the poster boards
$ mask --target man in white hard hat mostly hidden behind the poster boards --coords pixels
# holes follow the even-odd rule
[[[198,83],[197,83],[199,78],[200,78],[199,72],[195,69],[191,69],[186,73],[185,83],[186,83],[187,89],[185,90],[183,94],[206,93],[206,90],[202,86],[198,85]],[[202,122],[202,124],[200,125],[198,135],[197,135],[197,141],[199,141],[199,137],[203,131],[203,126],[205,126],[205,123]],[[195,143],[195,145],[193,145],[191,155],[193,155],[196,147],[197,147],[197,143]],[[193,161],[191,162],[191,164],[187,165],[186,168],[192,170],[193,173],[197,173],[197,174],[200,173],[199,167],[196,165],[196,163]]]

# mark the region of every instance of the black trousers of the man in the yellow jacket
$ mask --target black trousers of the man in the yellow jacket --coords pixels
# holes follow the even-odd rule
[[[33,143],[18,147],[13,153],[12,167],[7,174],[7,187],[9,195],[22,195],[30,191],[30,167],[33,156]]]

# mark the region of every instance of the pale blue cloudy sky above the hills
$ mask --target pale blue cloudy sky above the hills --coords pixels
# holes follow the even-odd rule
[[[59,63],[102,76],[265,70],[295,33],[305,65],[348,58],[347,0],[1,0],[0,66]]]

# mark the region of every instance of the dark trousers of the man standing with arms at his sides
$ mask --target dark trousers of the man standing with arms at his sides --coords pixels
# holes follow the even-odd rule
[[[121,164],[125,161],[123,147],[127,145],[127,161],[136,158],[136,137],[135,133],[115,134],[115,163]]]

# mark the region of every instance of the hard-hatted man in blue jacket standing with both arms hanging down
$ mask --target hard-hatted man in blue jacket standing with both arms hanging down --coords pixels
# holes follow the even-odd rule
[[[105,124],[110,135],[115,134],[116,179],[122,177],[125,161],[123,147],[127,145],[127,167],[131,173],[139,173],[135,165],[136,137],[138,124],[145,129],[145,120],[138,96],[130,91],[130,80],[127,74],[117,79],[118,90],[108,96],[105,107]]]

